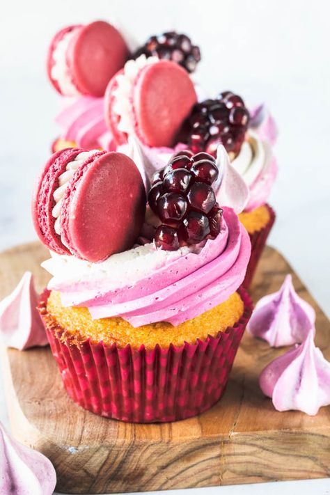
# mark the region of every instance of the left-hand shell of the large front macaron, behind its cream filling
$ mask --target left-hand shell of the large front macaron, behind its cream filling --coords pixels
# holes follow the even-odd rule
[[[41,242],[58,254],[70,254],[55,232],[55,219],[52,210],[55,205],[54,191],[58,187],[58,177],[65,171],[69,162],[74,160],[82,150],[68,148],[60,150],[49,158],[37,180],[32,197],[32,221]]]

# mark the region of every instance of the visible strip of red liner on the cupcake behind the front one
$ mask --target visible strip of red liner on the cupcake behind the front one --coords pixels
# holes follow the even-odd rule
[[[267,210],[269,211],[270,214],[270,219],[267,225],[261,230],[258,230],[253,234],[249,234],[251,240],[251,256],[249,260],[249,265],[246,268],[245,278],[242,283],[242,285],[246,289],[250,288],[251,282],[253,280],[253,276],[258,266],[258,262],[262,255],[262,251],[265,248],[267,237],[269,235],[269,232],[272,230],[272,226],[274,225],[274,221],[276,219],[276,214],[272,209],[272,207],[270,207],[267,203],[265,204],[265,206],[267,207]]]

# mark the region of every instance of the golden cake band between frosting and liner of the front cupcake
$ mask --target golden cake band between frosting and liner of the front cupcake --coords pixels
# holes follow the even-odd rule
[[[91,338],[93,344],[102,340],[106,345],[116,343],[118,347],[125,347],[130,344],[137,349],[144,344],[147,349],[152,349],[157,344],[161,347],[168,347],[171,343],[194,344],[197,338],[203,340],[207,335],[217,336],[219,331],[225,331],[238,322],[244,313],[244,303],[239,294],[234,292],[219,306],[178,327],[167,322],[157,322],[134,328],[120,317],[92,320],[87,308],[64,308],[61,294],[55,291],[49,295],[47,311],[54,323],[77,341]]]

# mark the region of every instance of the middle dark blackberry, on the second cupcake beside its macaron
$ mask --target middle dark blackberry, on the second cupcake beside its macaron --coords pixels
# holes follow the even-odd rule
[[[182,127],[180,140],[197,153],[206,151],[216,157],[223,144],[227,152],[238,154],[249,124],[249,111],[244,101],[231,91],[215,100],[197,103]]]

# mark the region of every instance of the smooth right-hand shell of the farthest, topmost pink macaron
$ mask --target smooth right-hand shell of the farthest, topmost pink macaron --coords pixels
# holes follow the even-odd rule
[[[81,27],[70,40],[67,54],[74,86],[81,94],[103,96],[128,56],[125,40],[111,24],[96,21]]]

